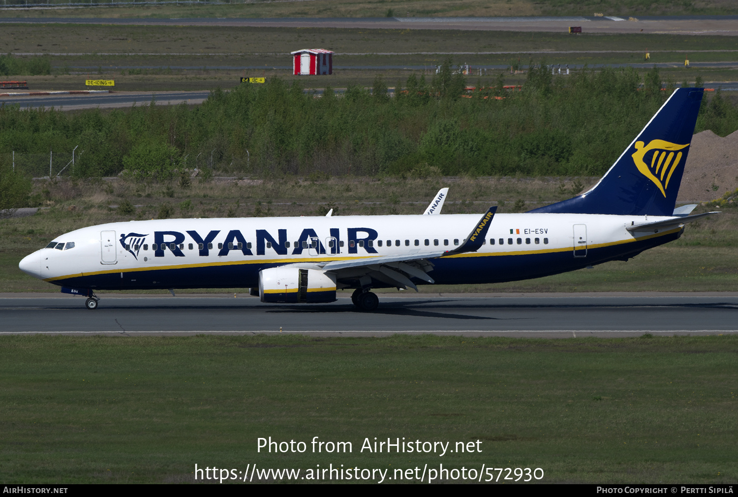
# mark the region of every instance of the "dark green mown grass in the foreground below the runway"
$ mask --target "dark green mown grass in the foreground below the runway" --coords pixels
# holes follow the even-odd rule
[[[198,467],[540,467],[541,481],[734,483],[738,337],[0,338],[6,483]],[[258,437],[308,442],[257,453]],[[351,442],[311,453],[309,442]],[[360,452],[368,437],[480,453]]]

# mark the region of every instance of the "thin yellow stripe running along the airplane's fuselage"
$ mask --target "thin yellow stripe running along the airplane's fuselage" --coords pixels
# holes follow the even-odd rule
[[[635,239],[610,241],[609,243],[602,243],[602,244],[590,244],[590,245],[587,245],[587,249],[612,247],[613,245],[634,243],[635,241],[643,241],[647,239],[656,238],[658,236],[665,236],[671,233],[677,233],[677,231],[680,231],[682,229],[683,228],[681,227],[676,227],[672,230],[662,231],[661,233],[654,233],[652,235],[647,235],[647,236],[639,236],[638,238],[635,238]],[[550,249],[542,249],[542,250],[515,250],[511,252],[493,252],[493,253],[490,253],[490,252],[461,253],[461,254],[455,254],[453,256],[446,256],[446,258],[520,256],[520,255],[541,254],[541,253],[568,252],[570,250],[573,250],[573,247],[559,247],[559,248],[550,248]],[[378,256],[378,257],[382,257],[382,256]],[[133,268],[128,268],[128,269],[94,271],[92,273],[78,273],[74,275],[55,276],[54,278],[44,278],[43,281],[51,282],[51,281],[64,280],[66,278],[79,278],[83,276],[104,275],[104,274],[113,274],[113,273],[139,273],[141,271],[193,269],[196,267],[235,266],[235,265],[241,266],[244,264],[297,264],[300,262],[314,262],[315,263],[315,262],[328,262],[328,261],[351,261],[352,259],[356,259],[356,258],[367,258],[367,257],[365,256],[355,256],[355,257],[317,257],[317,256],[313,256],[311,258],[301,258],[301,259],[282,259],[282,258],[255,259],[255,260],[248,260],[248,261],[205,262],[201,264],[177,264],[174,266],[133,267]],[[367,263],[367,264],[371,264],[371,263]]]

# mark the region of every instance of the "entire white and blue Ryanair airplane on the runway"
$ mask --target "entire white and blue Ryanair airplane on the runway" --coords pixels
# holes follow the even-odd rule
[[[58,236],[19,267],[85,296],[88,309],[103,289],[249,287],[261,302],[289,304],[354,289],[354,305],[373,311],[376,288],[492,284],[627,261],[714,214],[675,208],[702,97],[675,90],[593,188],[526,213],[112,222]],[[446,193],[426,213],[440,211]]]

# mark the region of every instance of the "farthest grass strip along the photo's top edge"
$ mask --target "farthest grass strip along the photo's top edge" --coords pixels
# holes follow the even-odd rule
[[[63,1],[55,0],[51,4]],[[462,17],[462,16],[669,16],[731,14],[738,10],[728,0],[646,1],[646,0],[317,0],[250,1],[227,5],[162,5],[49,10],[0,11],[7,17]]]

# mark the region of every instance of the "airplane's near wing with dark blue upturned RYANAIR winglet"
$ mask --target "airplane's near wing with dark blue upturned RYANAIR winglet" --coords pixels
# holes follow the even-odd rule
[[[362,273],[370,278],[376,278],[384,283],[395,284],[398,287],[411,287],[418,291],[410,278],[419,278],[428,283],[435,283],[433,278],[427,275],[432,270],[433,264],[429,259],[444,256],[453,256],[460,253],[476,252],[483,245],[489,224],[492,222],[497,207],[491,207],[477,222],[469,236],[454,250],[418,250],[401,256],[379,256],[351,259],[348,261],[329,261],[323,264],[324,271],[336,272],[339,278],[342,275],[354,277]]]

